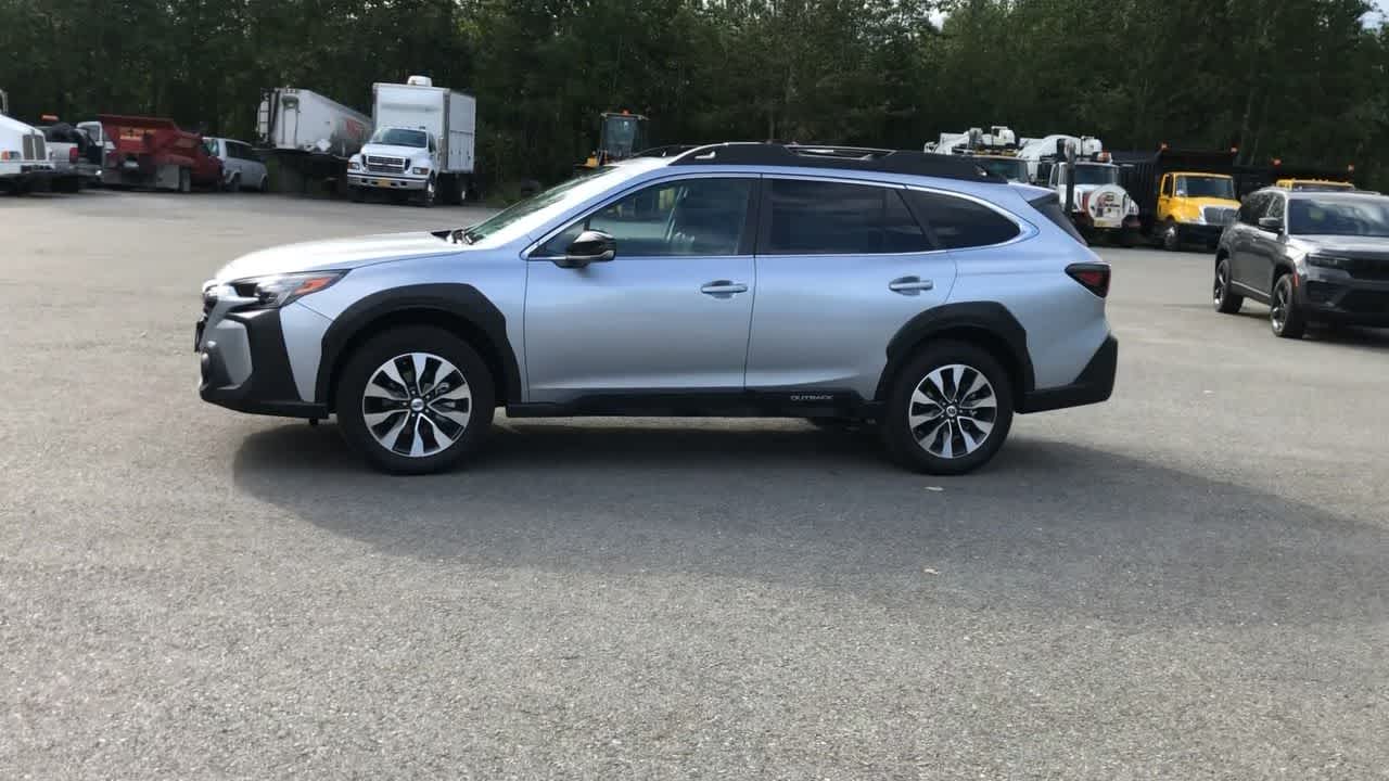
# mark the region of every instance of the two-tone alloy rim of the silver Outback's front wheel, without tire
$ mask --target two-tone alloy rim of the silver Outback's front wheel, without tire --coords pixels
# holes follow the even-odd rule
[[[376,367],[363,390],[361,417],[376,443],[400,456],[433,456],[468,429],[472,390],[453,363],[406,353]]]

